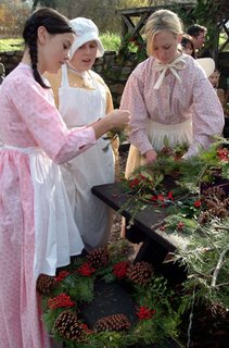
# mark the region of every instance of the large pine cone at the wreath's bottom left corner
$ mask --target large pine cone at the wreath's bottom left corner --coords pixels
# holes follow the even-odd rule
[[[71,310],[63,311],[54,322],[54,330],[66,339],[81,341],[85,338],[85,331],[77,316]]]

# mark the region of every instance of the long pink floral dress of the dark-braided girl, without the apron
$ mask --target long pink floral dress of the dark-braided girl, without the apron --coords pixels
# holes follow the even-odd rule
[[[3,145],[38,147],[64,163],[96,142],[91,127],[67,130],[28,66],[20,64],[0,89]],[[34,188],[28,156],[16,148],[0,148],[0,346],[46,348],[34,276]]]

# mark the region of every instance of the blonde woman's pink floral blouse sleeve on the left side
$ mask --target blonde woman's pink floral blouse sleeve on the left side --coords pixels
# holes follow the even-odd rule
[[[143,82],[133,73],[130,74],[120,100],[120,109],[130,112],[129,141],[144,154],[152,149],[148,138],[148,110],[144,103]]]

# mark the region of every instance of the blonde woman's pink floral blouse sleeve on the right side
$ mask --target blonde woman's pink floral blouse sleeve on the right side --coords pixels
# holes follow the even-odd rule
[[[220,101],[207,78],[198,77],[193,88],[193,140],[186,157],[207,149],[213,136],[222,134],[225,124]]]

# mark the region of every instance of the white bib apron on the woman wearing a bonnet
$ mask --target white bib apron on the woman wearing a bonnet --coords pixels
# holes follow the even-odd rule
[[[96,78],[93,90],[69,87],[62,66],[59,110],[68,128],[88,125],[105,115],[105,88]],[[97,144],[63,165],[62,172],[76,224],[87,250],[104,246],[110,237],[112,210],[91,194],[91,187],[114,182],[115,160],[104,135]]]

